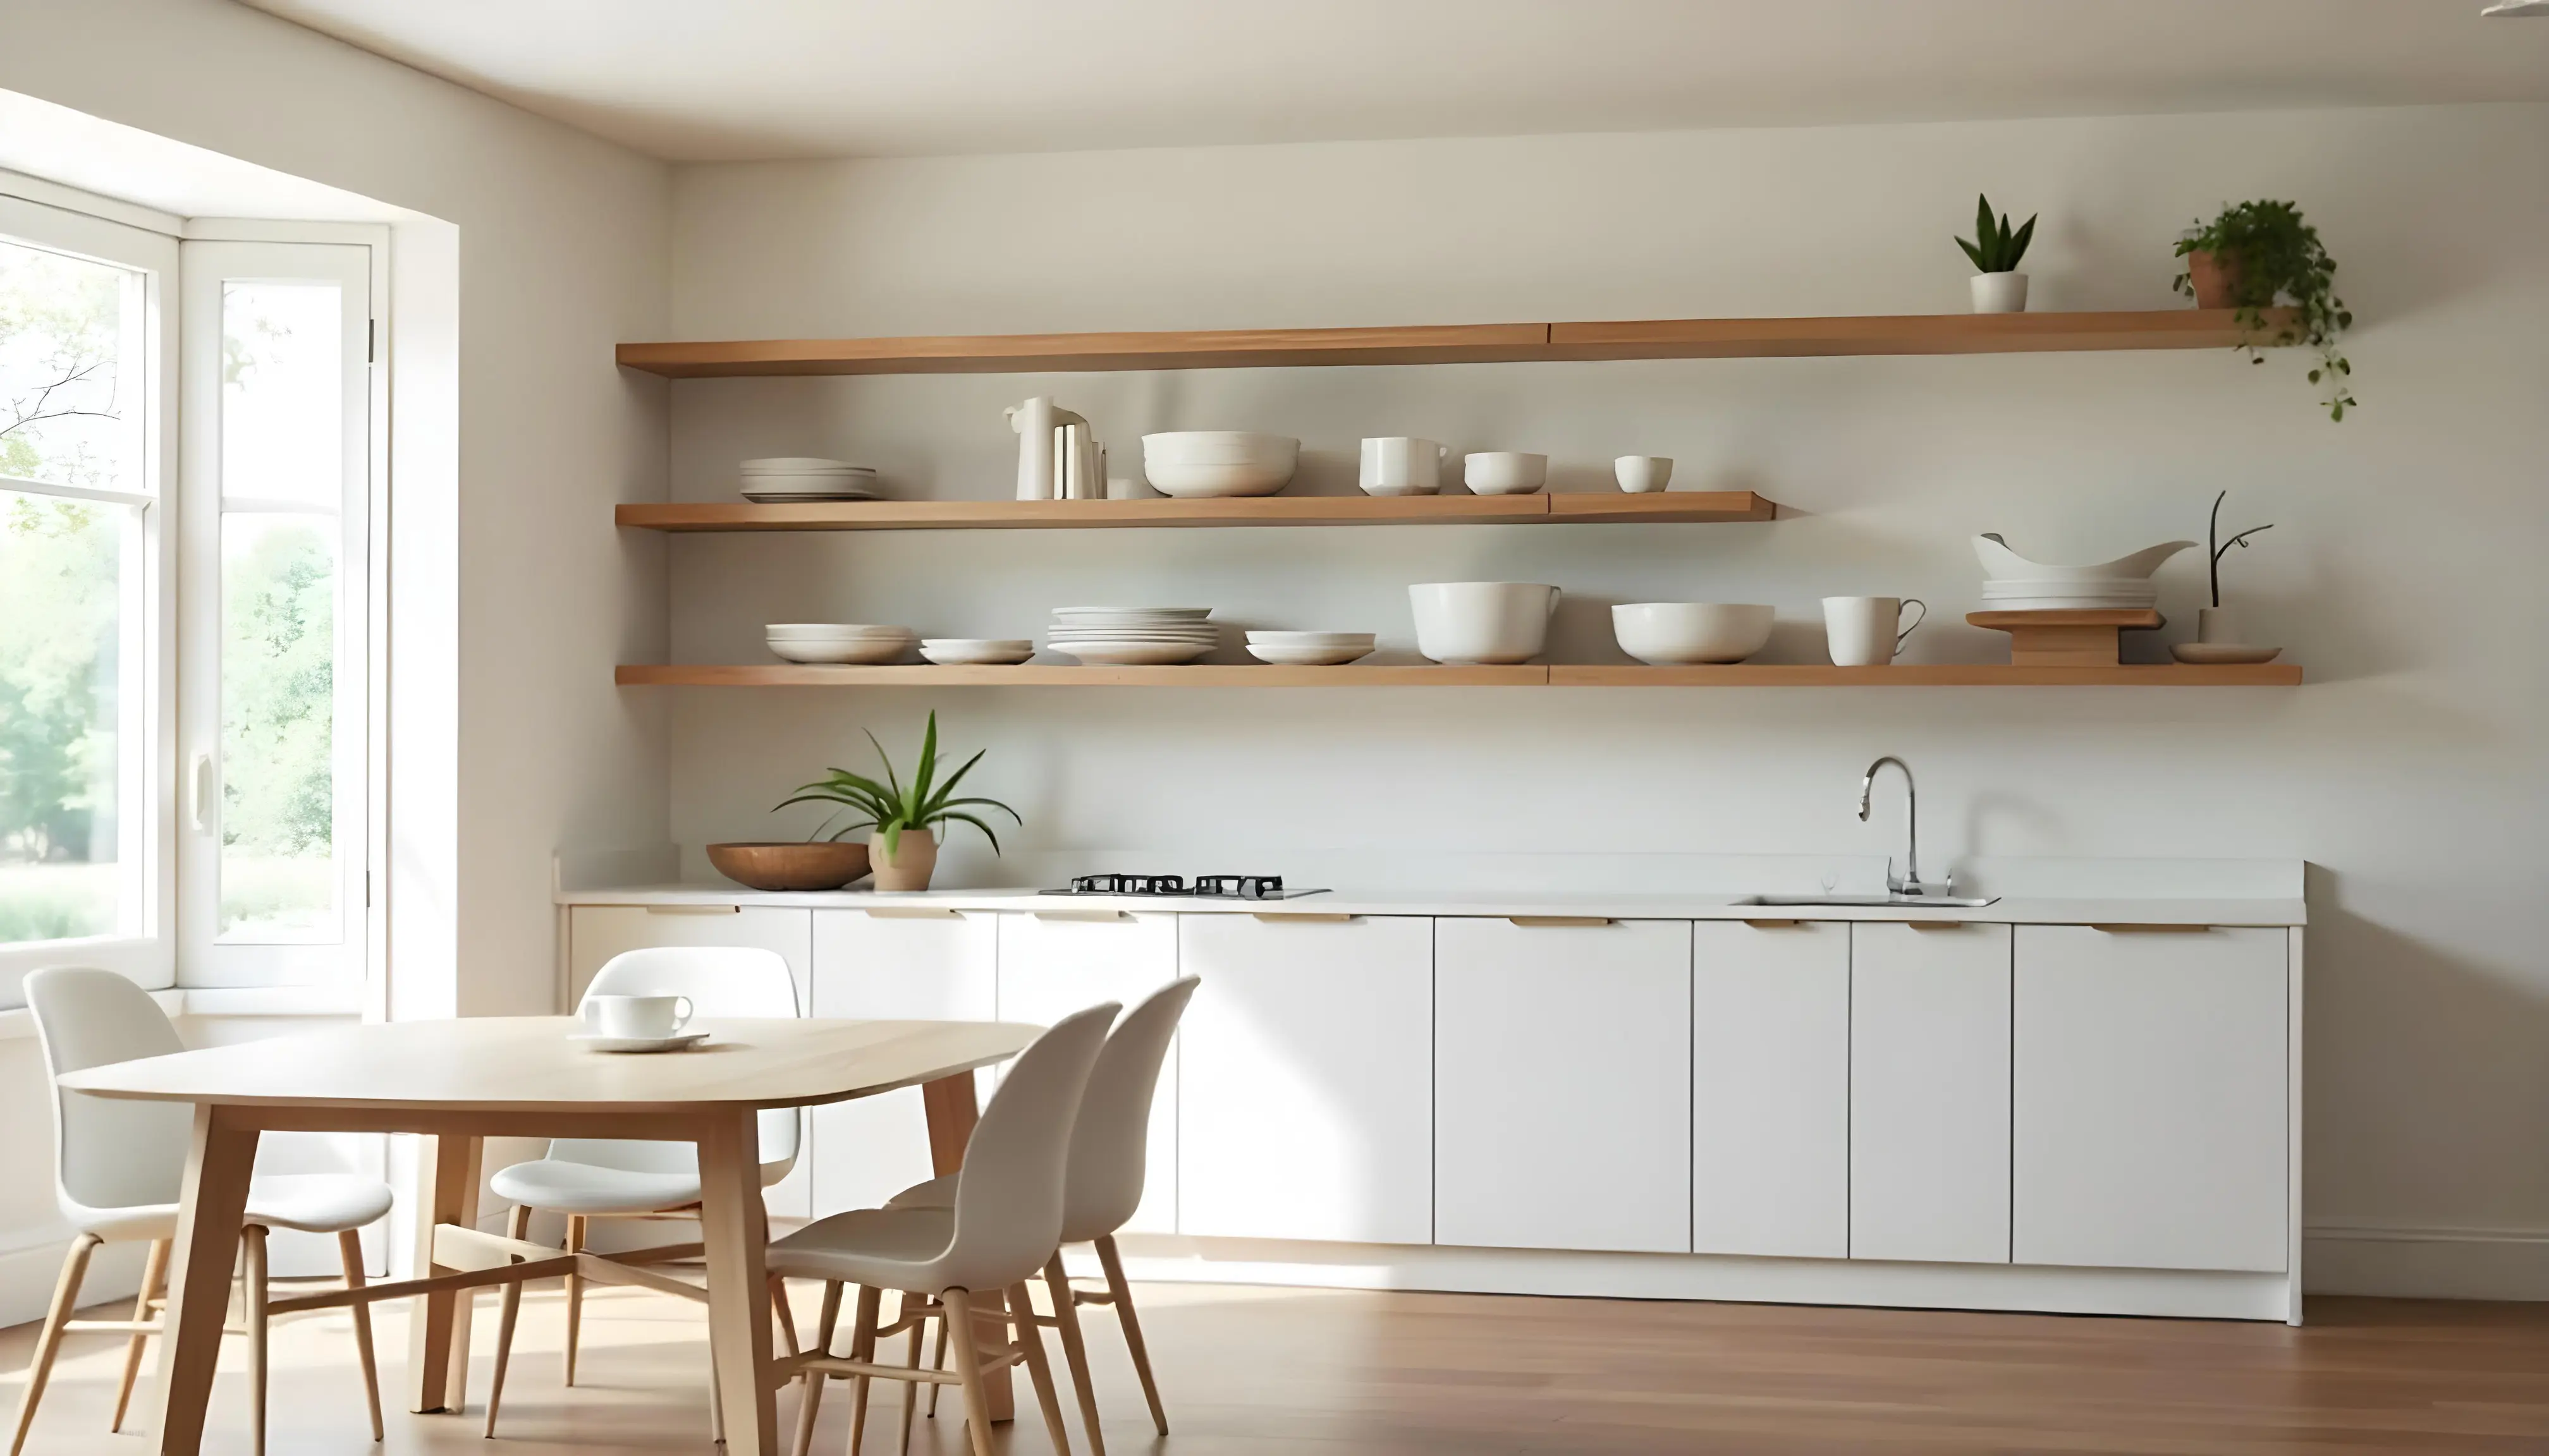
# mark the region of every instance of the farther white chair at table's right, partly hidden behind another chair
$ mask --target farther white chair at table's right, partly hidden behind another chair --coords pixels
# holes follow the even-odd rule
[[[1195,997],[1198,977],[1175,979],[1129,1010],[1106,1038],[1096,1071],[1088,1074],[1088,1094],[1081,1096],[1081,1117],[1071,1127],[1071,1170],[1063,1178],[1063,1237],[1055,1239],[1045,1260],[1045,1290],[1053,1295],[1053,1316],[1037,1323],[1055,1326],[1063,1336],[1063,1362],[1071,1367],[1071,1385],[1081,1400],[1081,1423],[1088,1428],[1088,1448],[1106,1456],[1106,1438],[1099,1433],[1096,1387],[1088,1382],[1088,1346],[1081,1339],[1081,1306],[1114,1306],[1124,1329],[1124,1349],[1132,1369],[1142,1380],[1142,1400],[1150,1402],[1150,1423],[1167,1436],[1167,1410],[1160,1405],[1160,1382],[1150,1372],[1150,1346],[1142,1344],[1142,1321],[1132,1308],[1132,1285],[1124,1280],[1124,1260],[1116,1255],[1114,1234],[1132,1221],[1142,1206],[1142,1186],[1150,1163],[1150,1102],[1160,1089],[1160,1066],[1167,1045],[1178,1035],[1185,1002]],[[943,1209],[956,1193],[956,1176],[930,1178],[895,1193],[887,1209]],[[1065,1244],[1096,1244],[1104,1290],[1081,1290],[1063,1272]],[[946,1364],[946,1326],[938,1326],[938,1354],[933,1367]],[[920,1331],[913,1331],[913,1349]],[[938,1413],[935,1387],[930,1390],[930,1415]],[[910,1405],[902,1410],[902,1446],[910,1448]]]

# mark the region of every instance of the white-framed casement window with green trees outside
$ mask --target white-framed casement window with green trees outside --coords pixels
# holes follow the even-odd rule
[[[0,196],[0,1007],[367,969],[382,258],[242,229]]]

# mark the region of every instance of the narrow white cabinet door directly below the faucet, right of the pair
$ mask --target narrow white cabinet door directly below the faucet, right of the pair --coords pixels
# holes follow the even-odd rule
[[[2009,926],[1851,926],[1851,1257],[2009,1262]]]

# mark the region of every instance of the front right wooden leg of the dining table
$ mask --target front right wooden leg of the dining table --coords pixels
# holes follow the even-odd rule
[[[765,1262],[770,1221],[755,1112],[716,1114],[698,1130],[698,1237],[709,1257],[709,1359],[724,1410],[726,1456],[775,1456]]]

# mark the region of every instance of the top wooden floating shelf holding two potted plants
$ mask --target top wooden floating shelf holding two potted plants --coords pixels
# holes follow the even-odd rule
[[[2281,314],[2279,309],[2266,311],[2271,324],[2279,324]],[[1025,375],[1073,370],[1252,370],[1285,365],[2228,349],[2243,339],[2246,334],[2230,309],[2139,309],[2111,314],[1874,314],[1840,319],[1647,319],[1404,329],[716,339],[619,344],[619,365],[668,380],[719,380],[757,375]]]

